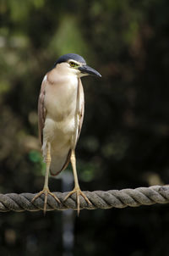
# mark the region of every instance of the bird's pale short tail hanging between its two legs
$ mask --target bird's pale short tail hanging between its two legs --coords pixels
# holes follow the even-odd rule
[[[70,155],[71,155],[71,149],[68,151],[67,154],[62,155],[54,155],[51,154],[51,167],[50,167],[50,173],[51,175],[58,175],[62,170],[66,169],[68,166],[68,163],[70,161]]]

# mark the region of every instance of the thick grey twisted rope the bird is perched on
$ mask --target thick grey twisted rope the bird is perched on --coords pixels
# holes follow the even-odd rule
[[[61,203],[48,195],[46,210],[64,210],[76,209],[76,196],[73,194],[66,201],[63,199],[68,192],[53,192]],[[80,197],[80,209],[110,209],[124,208],[127,206],[137,207],[140,205],[151,205],[154,203],[169,203],[169,185],[168,186],[149,186],[138,187],[135,189],[109,190],[107,192],[94,191],[85,192],[87,198],[90,199],[91,205]],[[44,207],[44,196],[37,198],[31,203],[35,194],[0,194],[0,212],[22,212],[22,211],[39,211]]]

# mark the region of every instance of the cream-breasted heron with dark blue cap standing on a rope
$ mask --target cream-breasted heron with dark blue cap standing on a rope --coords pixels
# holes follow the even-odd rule
[[[75,147],[79,140],[85,110],[81,77],[86,75],[101,77],[101,74],[88,66],[79,54],[68,53],[57,59],[41,83],[38,127],[46,173],[43,189],[35,195],[32,202],[44,194],[44,214],[48,195],[60,203],[57,196],[49,190],[49,174],[58,175],[67,168],[69,162],[74,172],[74,189],[68,192],[64,201],[75,193],[78,214],[80,195],[91,204],[85,193],[80,190],[75,157]]]

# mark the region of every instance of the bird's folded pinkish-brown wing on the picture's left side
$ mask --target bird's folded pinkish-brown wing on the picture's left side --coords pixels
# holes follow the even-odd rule
[[[46,76],[45,76],[46,78]],[[39,137],[41,140],[41,145],[43,144],[43,128],[45,125],[45,118],[46,118],[46,109],[44,106],[44,99],[45,99],[45,87],[46,87],[46,79],[41,83],[41,92],[38,99],[38,127],[39,127]]]

